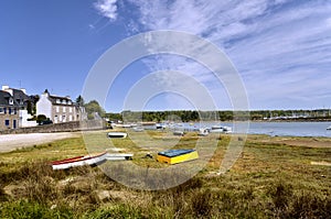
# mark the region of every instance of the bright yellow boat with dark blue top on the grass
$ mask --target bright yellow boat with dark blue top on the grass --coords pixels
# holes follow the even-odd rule
[[[178,164],[199,158],[197,152],[193,149],[179,149],[159,152],[157,161],[167,164]]]

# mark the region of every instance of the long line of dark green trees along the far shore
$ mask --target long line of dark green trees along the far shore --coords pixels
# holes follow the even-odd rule
[[[252,110],[252,111],[122,111],[120,113],[105,113],[105,118],[113,121],[139,122],[139,121],[232,121],[232,120],[331,120],[331,110]]]

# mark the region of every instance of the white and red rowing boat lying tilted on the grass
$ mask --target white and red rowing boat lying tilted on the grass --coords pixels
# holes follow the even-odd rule
[[[99,165],[107,160],[107,152],[98,154],[88,154],[85,156],[75,156],[61,161],[51,162],[53,169],[66,169],[75,166]]]

